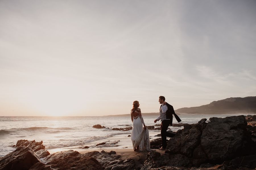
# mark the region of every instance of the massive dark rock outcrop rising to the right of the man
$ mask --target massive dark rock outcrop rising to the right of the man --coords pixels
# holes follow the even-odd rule
[[[160,166],[200,167],[204,163],[216,165],[256,153],[256,143],[246,129],[250,127],[244,116],[205,121],[202,119],[197,124],[184,124],[184,128],[170,138],[165,154],[157,154],[159,157],[155,160],[147,156],[143,169]],[[156,155],[152,152],[149,154]]]

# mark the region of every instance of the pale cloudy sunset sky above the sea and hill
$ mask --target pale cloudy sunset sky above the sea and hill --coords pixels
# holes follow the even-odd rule
[[[1,0],[0,116],[256,96],[255,0]]]

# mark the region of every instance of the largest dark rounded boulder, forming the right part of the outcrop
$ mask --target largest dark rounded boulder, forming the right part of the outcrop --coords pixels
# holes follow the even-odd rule
[[[246,130],[244,116],[210,118],[201,136],[201,146],[211,162],[255,153],[255,143]],[[253,151],[253,152],[251,152]]]

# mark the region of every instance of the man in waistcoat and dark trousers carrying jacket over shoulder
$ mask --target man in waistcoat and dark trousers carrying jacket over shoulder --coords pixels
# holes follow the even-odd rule
[[[166,136],[167,137],[174,137],[175,136],[175,134],[172,134],[172,133],[169,133],[169,132],[166,131],[168,129],[169,125],[172,126],[172,118],[173,118],[173,116],[172,116],[172,113],[169,114],[169,110],[171,111],[173,109],[169,108],[169,110],[168,110],[169,104],[165,102],[165,97],[164,96],[159,96],[159,103],[161,104],[161,106],[160,106],[160,116],[154,122],[156,123],[160,119],[162,121],[162,123],[161,123],[162,147],[159,150],[165,150],[166,149],[166,145],[167,145],[167,143],[166,143]],[[172,106],[170,105],[170,107],[172,107]],[[173,112],[174,112],[174,110],[173,110]]]

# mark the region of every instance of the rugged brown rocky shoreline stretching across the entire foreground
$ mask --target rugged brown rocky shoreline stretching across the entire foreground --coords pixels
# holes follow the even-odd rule
[[[255,169],[256,116],[231,116],[184,124],[168,141],[165,153],[158,151],[161,138],[150,141],[152,150],[144,159],[123,158],[115,151],[81,154],[68,150],[50,154],[43,141],[17,141],[16,150],[0,157],[0,170],[64,169]],[[131,154],[142,154],[131,152]],[[140,162],[138,165],[137,162]]]

